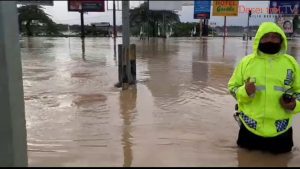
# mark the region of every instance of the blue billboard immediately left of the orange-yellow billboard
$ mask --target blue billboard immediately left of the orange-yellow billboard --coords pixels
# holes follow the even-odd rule
[[[195,0],[194,2],[194,19],[210,18],[211,0]]]

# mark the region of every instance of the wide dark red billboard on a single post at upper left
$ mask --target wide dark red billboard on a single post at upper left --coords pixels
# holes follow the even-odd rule
[[[105,0],[68,0],[69,11],[104,12]]]

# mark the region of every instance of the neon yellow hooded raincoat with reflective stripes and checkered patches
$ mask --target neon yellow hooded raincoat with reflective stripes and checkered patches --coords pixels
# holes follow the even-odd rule
[[[258,50],[261,38],[270,32],[279,33],[283,42],[275,55]],[[293,116],[300,112],[300,69],[297,61],[286,54],[287,38],[275,23],[265,22],[259,27],[253,44],[253,53],[244,57],[228,83],[230,93],[239,105],[239,118],[252,133],[262,137],[274,137],[287,131]],[[255,81],[256,92],[249,97],[245,81]],[[288,89],[296,94],[296,107],[285,110],[280,105],[282,94]]]

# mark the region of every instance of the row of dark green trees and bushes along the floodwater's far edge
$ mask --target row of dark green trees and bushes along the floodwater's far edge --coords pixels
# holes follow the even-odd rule
[[[148,10],[149,3],[145,2],[139,7],[130,10],[130,33],[132,36],[150,37],[189,37],[199,36],[200,28],[199,23],[180,22],[179,15],[174,11]],[[67,25],[55,23],[49,14],[44,11],[42,6],[38,5],[25,5],[18,7],[19,13],[19,27],[22,35],[25,36],[63,36],[62,32],[71,30],[75,35],[80,34],[80,25]],[[209,27],[208,20],[203,24],[202,34],[215,34],[215,31],[222,32],[223,27]],[[295,31],[300,33],[298,25],[300,21],[298,17],[294,19]],[[299,25],[300,26],[300,25]],[[251,29],[256,29],[253,26]],[[229,32],[243,32],[242,26],[229,26]],[[97,29],[92,25],[85,25],[85,34],[90,36],[111,36],[112,28]],[[122,31],[122,26],[117,26],[118,31]]]

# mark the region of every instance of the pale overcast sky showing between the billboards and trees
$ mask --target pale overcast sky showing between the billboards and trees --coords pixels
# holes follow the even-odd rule
[[[89,12],[84,15],[85,24],[90,24],[92,22],[110,22],[112,24],[112,1],[105,1],[106,8],[110,10],[106,10],[106,12]],[[119,2],[119,6],[121,7],[121,2]],[[131,1],[131,8],[137,7],[142,3],[142,1]],[[80,14],[78,12],[68,12],[67,1],[54,1],[54,6],[44,6],[45,11],[52,16],[52,19],[57,23],[65,23],[65,24],[80,24]],[[240,5],[245,7],[261,7],[266,8],[269,5],[269,1],[240,1]],[[181,22],[199,22],[199,20],[193,19],[194,7],[193,6],[183,6],[182,10],[178,12],[180,15]],[[117,24],[120,25],[122,12],[117,11]],[[254,15],[250,20],[250,25],[259,25],[264,21],[273,21],[273,18],[267,17],[265,15]],[[214,17],[211,16],[210,22],[215,22],[217,25],[223,25],[224,17]],[[239,13],[238,17],[227,17],[227,25],[247,25],[247,14]]]

